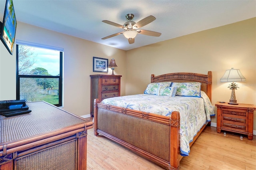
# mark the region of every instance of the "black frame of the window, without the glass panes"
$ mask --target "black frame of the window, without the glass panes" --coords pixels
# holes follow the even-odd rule
[[[26,45],[30,47],[37,47],[37,48],[43,48],[43,49],[54,49],[60,52],[60,75],[59,76],[54,76],[54,75],[19,75],[18,74],[18,53],[19,53],[19,45]],[[22,41],[16,41],[16,99],[20,99],[20,78],[57,78],[59,79],[59,103],[55,104],[57,107],[63,106],[63,49],[60,50],[61,48],[56,48],[56,47],[51,47],[47,45],[40,45],[35,43],[24,43]]]

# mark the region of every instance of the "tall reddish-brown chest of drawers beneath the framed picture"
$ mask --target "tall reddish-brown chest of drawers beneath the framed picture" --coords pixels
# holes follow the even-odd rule
[[[122,75],[96,74],[91,77],[90,114],[94,116],[94,99],[103,99],[120,96]]]

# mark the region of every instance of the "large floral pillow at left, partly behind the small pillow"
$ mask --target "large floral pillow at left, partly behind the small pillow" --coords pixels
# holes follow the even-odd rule
[[[144,94],[159,95],[159,90],[170,87],[171,83],[172,82],[150,83],[144,91]]]

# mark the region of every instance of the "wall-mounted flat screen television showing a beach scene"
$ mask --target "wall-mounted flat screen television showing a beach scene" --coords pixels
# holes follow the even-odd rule
[[[3,22],[0,23],[0,39],[11,55],[14,49],[16,27],[17,21],[12,0],[6,0],[4,19]]]

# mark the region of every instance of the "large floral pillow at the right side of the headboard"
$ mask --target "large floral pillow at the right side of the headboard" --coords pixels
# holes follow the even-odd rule
[[[199,82],[173,83],[172,87],[175,86],[177,96],[201,97],[201,83]]]

